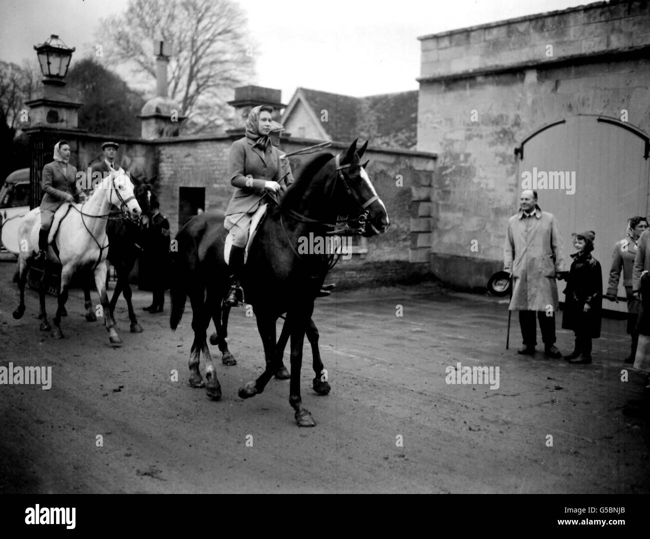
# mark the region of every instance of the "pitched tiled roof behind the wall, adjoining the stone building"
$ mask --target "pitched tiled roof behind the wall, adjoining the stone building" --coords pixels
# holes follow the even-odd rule
[[[415,148],[417,143],[418,90],[353,98],[330,92],[298,88],[317,118],[328,111],[322,127],[332,140],[350,142],[367,138],[372,146]]]

